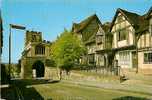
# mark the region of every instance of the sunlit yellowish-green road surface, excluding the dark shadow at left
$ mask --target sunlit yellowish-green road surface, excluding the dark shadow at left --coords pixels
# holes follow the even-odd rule
[[[36,84],[33,88],[45,100],[146,100],[150,95],[80,86],[66,82]],[[123,99],[122,99],[123,98]]]

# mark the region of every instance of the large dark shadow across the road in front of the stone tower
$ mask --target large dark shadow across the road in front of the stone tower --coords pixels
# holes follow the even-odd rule
[[[21,100],[44,100],[39,92],[32,86],[38,84],[55,84],[58,80],[45,80],[45,79],[18,79],[12,80],[12,87],[16,89],[16,94],[21,97]],[[16,100],[16,99],[15,99]],[[50,98],[50,100],[52,100]]]

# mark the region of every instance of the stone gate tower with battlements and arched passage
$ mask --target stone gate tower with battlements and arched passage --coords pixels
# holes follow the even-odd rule
[[[45,67],[50,61],[49,41],[42,40],[42,33],[26,31],[25,46],[21,57],[21,78],[44,77]]]

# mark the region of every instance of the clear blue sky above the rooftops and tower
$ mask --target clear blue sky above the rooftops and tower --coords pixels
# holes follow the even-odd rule
[[[54,41],[72,23],[79,23],[97,14],[101,23],[111,22],[117,8],[145,14],[152,0],[0,0],[3,20],[4,47],[2,62],[8,63],[9,24],[19,24],[26,30],[40,31],[42,37]],[[24,48],[25,31],[12,30],[12,62],[17,63]]]

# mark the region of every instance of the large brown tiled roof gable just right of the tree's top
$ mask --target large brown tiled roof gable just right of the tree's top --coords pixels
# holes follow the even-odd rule
[[[82,40],[85,44],[94,43],[99,28],[98,25],[101,25],[101,22],[97,15],[93,14],[78,24],[73,23],[72,31],[81,34]]]

